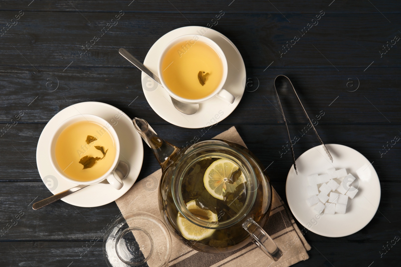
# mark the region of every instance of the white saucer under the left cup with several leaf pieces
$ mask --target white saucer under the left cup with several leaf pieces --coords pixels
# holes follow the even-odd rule
[[[61,200],[79,207],[97,207],[115,201],[124,195],[135,183],[142,167],[144,148],[142,138],[135,130],[132,120],[118,108],[101,102],[82,102],[64,108],[46,124],[36,148],[36,164],[43,183],[57,194],[76,185],[60,177],[50,163],[49,146],[55,128],[65,119],[78,114],[93,114],[109,122],[120,141],[120,161],[130,167],[122,189],[114,189],[107,181],[89,185]],[[119,115],[119,119],[118,118]]]

